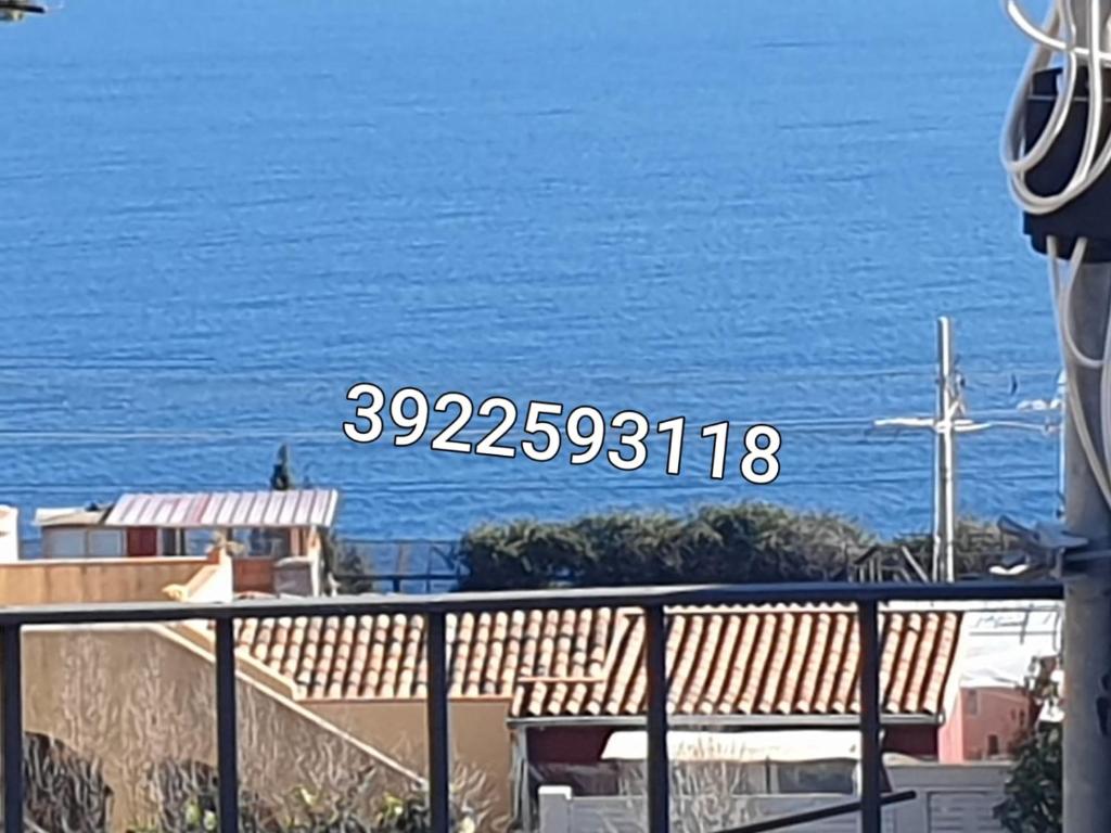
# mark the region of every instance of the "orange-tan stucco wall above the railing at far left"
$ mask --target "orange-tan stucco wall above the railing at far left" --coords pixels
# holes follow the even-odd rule
[[[4,563],[0,604],[166,601],[162,588],[188,584],[211,565],[207,559],[178,558]]]

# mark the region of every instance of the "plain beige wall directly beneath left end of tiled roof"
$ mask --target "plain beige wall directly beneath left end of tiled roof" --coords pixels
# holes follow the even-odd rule
[[[407,766],[422,774],[427,771],[424,701],[307,700],[302,704]],[[487,830],[504,830],[510,816],[509,709],[504,699],[452,700],[448,717],[458,792],[464,793],[459,797],[486,810],[491,822]]]

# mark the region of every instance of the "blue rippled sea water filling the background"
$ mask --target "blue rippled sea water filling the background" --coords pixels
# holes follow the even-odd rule
[[[935,317],[973,415],[1053,394],[997,160],[1025,49],[985,0],[72,0],[2,27],[0,502],[259,486],[288,440],[353,535],[757,498],[922,529],[930,436],[868,428],[933,408]],[[678,476],[660,439],[629,473],[354,445],[357,381],[694,431]],[[739,430],[708,476],[720,420],[780,429],[773,485]],[[1049,515],[1055,453],[962,439],[962,510]]]

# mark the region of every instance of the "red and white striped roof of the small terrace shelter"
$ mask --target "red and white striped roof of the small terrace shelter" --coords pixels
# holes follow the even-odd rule
[[[124,494],[108,513],[104,525],[174,529],[331,526],[338,502],[339,493],[332,489]]]

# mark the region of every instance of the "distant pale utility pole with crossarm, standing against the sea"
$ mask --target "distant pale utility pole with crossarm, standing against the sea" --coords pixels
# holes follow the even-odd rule
[[[990,423],[964,419],[960,374],[953,350],[953,322],[938,319],[938,407],[933,416],[875,420],[875,428],[928,429],[934,436],[932,581],[955,579],[957,434],[982,431]]]

